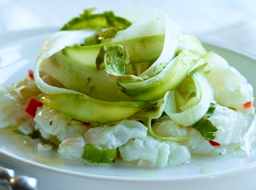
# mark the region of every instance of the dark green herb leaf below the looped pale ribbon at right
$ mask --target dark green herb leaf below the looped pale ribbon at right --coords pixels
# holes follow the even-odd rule
[[[195,124],[191,126],[192,128],[196,129],[200,132],[202,137],[205,138],[205,140],[214,140],[215,136],[213,132],[218,131],[216,126],[213,125],[213,122],[211,122],[209,119],[202,118]]]

